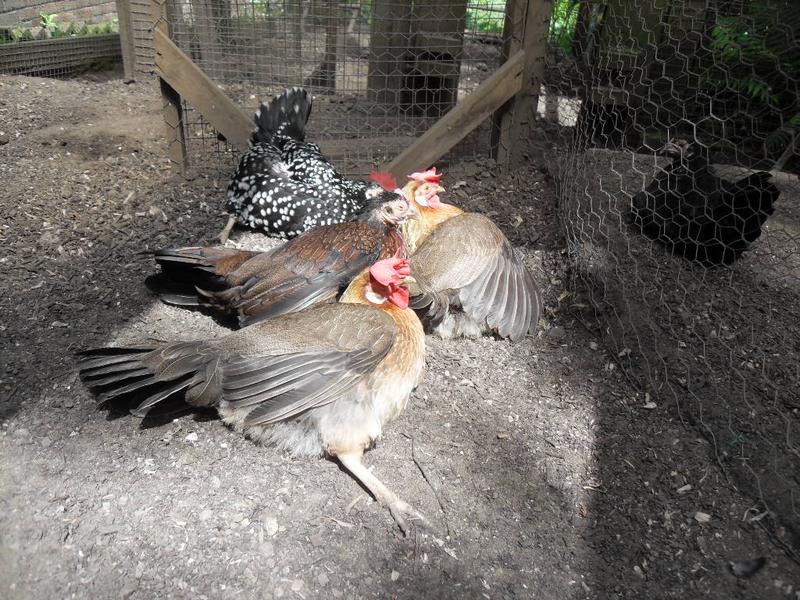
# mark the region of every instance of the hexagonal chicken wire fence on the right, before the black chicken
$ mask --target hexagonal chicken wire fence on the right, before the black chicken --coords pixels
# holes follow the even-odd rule
[[[540,125],[573,304],[640,386],[632,418],[677,405],[752,497],[737,517],[797,558],[800,6],[575,0],[551,26]]]

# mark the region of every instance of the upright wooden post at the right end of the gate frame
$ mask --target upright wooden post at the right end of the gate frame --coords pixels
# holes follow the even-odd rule
[[[503,37],[504,56],[525,53],[522,87],[519,93],[494,115],[492,147],[497,162],[518,164],[532,135],[544,76],[550,0],[509,0]]]

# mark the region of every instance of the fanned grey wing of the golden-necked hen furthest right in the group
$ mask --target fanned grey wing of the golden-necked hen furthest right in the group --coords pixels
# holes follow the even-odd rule
[[[414,308],[441,318],[460,306],[478,323],[518,340],[539,320],[540,293],[503,233],[483,215],[465,213],[439,225],[411,257]]]

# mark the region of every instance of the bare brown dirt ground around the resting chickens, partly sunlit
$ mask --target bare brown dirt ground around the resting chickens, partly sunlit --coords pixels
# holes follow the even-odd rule
[[[401,537],[334,463],[208,415],[96,409],[75,350],[225,331],[143,285],[141,251],[224,224],[224,177],[171,176],[159,109],[147,83],[0,76],[0,596],[800,597],[797,564],[743,520],[752,501],[708,444],[673,407],[645,408],[581,325],[536,169],[464,163],[444,183],[529,260],[538,336],[429,338],[423,385],[366,458],[440,532]],[[729,571],[759,557],[750,579]]]

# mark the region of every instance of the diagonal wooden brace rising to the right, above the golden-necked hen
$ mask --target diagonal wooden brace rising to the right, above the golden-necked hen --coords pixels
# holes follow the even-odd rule
[[[520,50],[385,169],[395,177],[405,178],[409,173],[430,167],[522,89],[524,65],[525,53]]]

